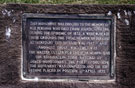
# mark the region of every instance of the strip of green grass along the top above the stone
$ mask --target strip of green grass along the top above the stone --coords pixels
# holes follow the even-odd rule
[[[0,0],[0,3],[37,4],[135,4],[135,0]]]

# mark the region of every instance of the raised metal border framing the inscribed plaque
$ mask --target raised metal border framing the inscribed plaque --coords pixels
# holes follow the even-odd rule
[[[26,38],[27,32],[25,30],[26,21],[28,18],[68,18],[68,19],[97,19],[97,20],[111,20],[110,38],[111,38],[111,61],[110,61],[110,75],[109,76],[29,76],[26,72],[26,57],[27,51]],[[115,15],[107,16],[105,14],[38,14],[38,13],[24,13],[22,15],[22,50],[21,50],[21,78],[27,81],[62,81],[62,80],[78,80],[78,81],[93,81],[93,82],[112,82],[116,80],[115,74],[115,59],[116,59],[116,17]]]

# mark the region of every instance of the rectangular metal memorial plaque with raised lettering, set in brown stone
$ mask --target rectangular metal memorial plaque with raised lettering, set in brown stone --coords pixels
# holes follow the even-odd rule
[[[114,17],[24,14],[22,75],[27,79],[114,79]]]

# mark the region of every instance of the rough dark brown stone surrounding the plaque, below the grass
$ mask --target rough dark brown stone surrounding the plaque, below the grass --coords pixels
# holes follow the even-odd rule
[[[116,82],[25,82],[20,78],[23,13],[116,15]],[[127,14],[124,13],[127,12]],[[121,18],[118,18],[118,12]],[[125,19],[129,21],[126,24]],[[6,29],[11,29],[8,38]],[[135,88],[135,5],[0,5],[0,88]]]

